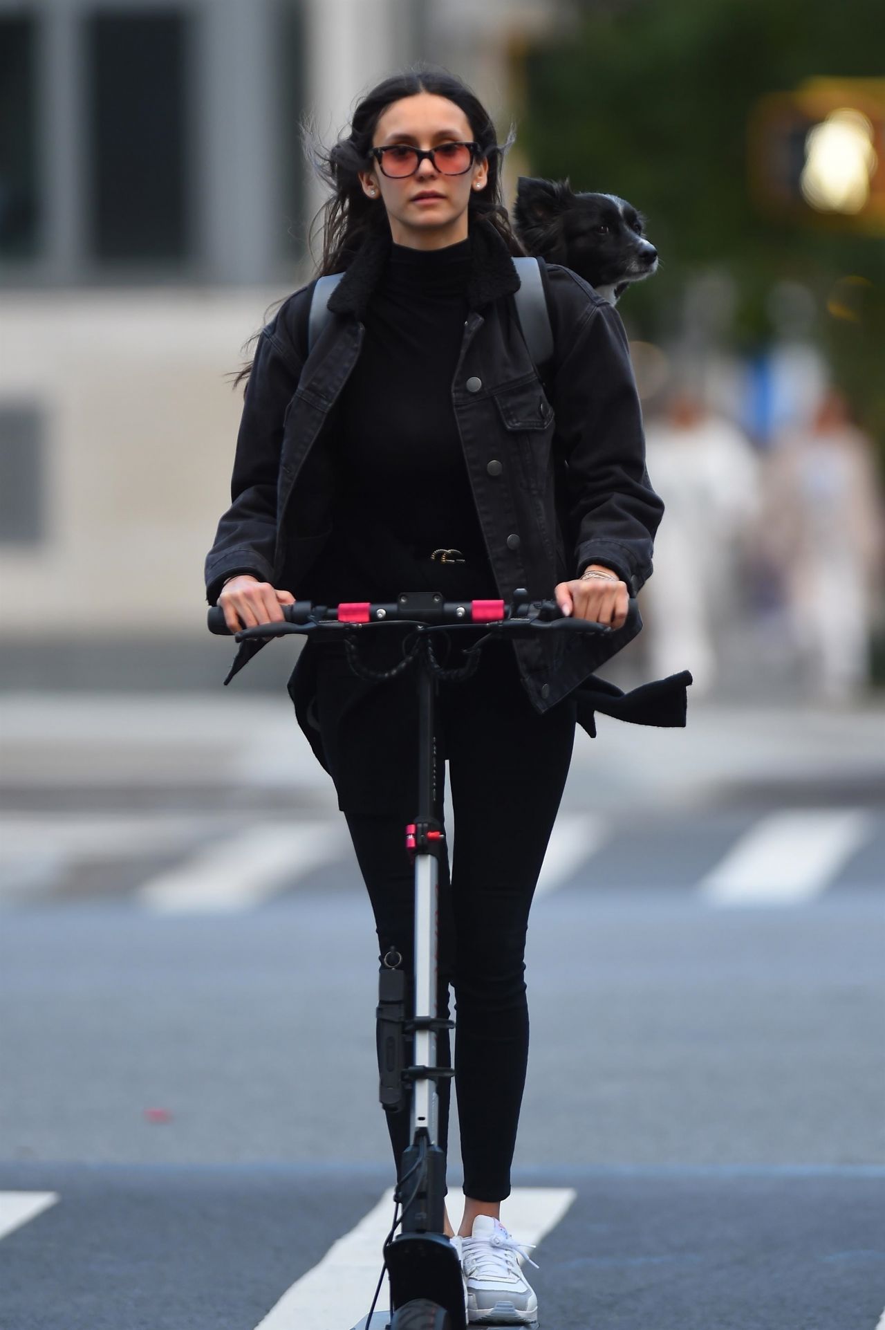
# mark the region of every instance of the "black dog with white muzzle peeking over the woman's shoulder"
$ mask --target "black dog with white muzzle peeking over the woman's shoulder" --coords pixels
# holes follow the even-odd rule
[[[562,263],[610,305],[658,269],[644,218],[617,194],[575,194],[567,180],[520,176],[513,229],[528,254]]]

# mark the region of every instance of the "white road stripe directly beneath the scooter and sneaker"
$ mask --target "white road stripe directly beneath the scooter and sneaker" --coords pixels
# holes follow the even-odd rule
[[[501,1222],[517,1241],[537,1245],[562,1220],[575,1194],[571,1188],[514,1188],[501,1202]],[[381,1249],[392,1220],[391,1189],[355,1229],[332,1244],[319,1265],[286,1290],[256,1330],[355,1326],[372,1303],[384,1260]],[[534,1260],[534,1252],[529,1254]],[[385,1281],[377,1307],[388,1306]]]

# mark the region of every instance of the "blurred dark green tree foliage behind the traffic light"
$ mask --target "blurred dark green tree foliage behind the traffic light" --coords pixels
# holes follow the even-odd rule
[[[574,31],[534,48],[521,145],[534,174],[629,198],[648,218],[660,270],[629,294],[648,336],[675,327],[683,285],[715,266],[736,282],[735,344],[772,335],[767,297],[807,285],[816,335],[885,455],[885,245],[772,219],[748,190],[749,113],[811,77],[881,77],[881,0],[634,0],[582,4]],[[827,306],[838,278],[869,282],[853,318]]]

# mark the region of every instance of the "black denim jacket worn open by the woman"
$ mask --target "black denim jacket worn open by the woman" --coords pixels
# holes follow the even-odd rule
[[[361,314],[389,243],[385,231],[359,250],[332,293],[332,318],[310,356],[312,282],[288,297],[260,332],[237,438],[231,505],[206,557],[210,605],[235,572],[311,598],[310,571],[334,517],[323,431],[360,354]],[[488,222],[474,222],[470,250],[469,313],[452,402],[498,592],[506,600],[525,587],[532,598],[551,597],[558,581],[601,563],[635,597],[651,575],[663,503],[646,469],[621,317],[570,269],[542,262],[555,340],[545,388],[520,329],[513,302],[518,277],[504,241]],[[401,589],[392,588],[392,596]],[[607,636],[514,642],[536,709],[546,710],[583,682],[599,684],[587,676],[640,628],[634,604],[625,626]],[[243,642],[225,682],[263,645]],[[651,724],[684,724],[686,680],[674,680],[680,681],[683,718]]]

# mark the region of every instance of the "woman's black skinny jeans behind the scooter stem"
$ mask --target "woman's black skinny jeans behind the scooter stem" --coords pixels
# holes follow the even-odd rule
[[[458,645],[472,636],[452,634]],[[449,664],[458,662],[456,649]],[[407,670],[367,690],[343,654],[328,652],[320,662],[316,713],[372,902],[379,964],[391,946],[401,952],[411,1013],[415,875],[405,823],[416,811],[415,674]],[[452,983],[464,1193],[501,1201],[510,1194],[529,1053],[529,908],[571,759],[575,702],[566,697],[543,714],[536,712],[512,644],[496,641],[482,649],[470,678],[440,681],[436,717],[439,815],[448,759],[456,822],[450,872],[448,854],[440,859],[437,1007],[440,1016],[449,1016]],[[369,811],[360,787],[369,795]],[[437,1061],[452,1065],[448,1031],[437,1036]],[[446,1150],[450,1081],[437,1084],[439,1144]],[[408,1109],[385,1117],[399,1177],[411,1117]]]

